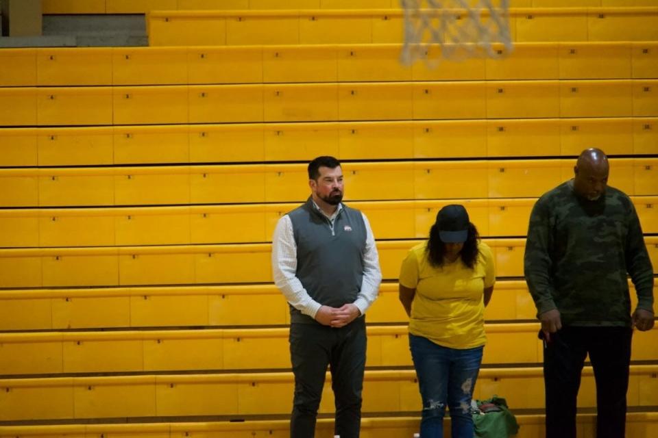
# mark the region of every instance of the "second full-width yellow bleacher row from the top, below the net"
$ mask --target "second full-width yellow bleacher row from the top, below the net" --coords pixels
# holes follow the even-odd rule
[[[648,117],[658,79],[0,88],[5,126]],[[598,105],[591,105],[592,99]],[[5,114],[6,113],[6,114]]]

